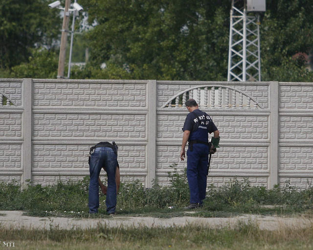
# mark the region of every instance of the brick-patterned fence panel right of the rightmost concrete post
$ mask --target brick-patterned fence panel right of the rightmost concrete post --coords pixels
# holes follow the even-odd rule
[[[313,83],[280,83],[279,180],[301,188],[313,180]]]

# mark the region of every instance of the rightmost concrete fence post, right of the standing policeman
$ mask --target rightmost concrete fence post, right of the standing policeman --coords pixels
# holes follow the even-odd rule
[[[270,82],[270,120],[269,120],[269,188],[278,184],[279,155],[279,83]]]

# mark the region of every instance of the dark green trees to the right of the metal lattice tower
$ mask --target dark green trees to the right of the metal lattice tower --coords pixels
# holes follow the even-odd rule
[[[304,57],[292,58],[313,48],[311,0],[267,0],[261,23],[262,80],[313,81]]]

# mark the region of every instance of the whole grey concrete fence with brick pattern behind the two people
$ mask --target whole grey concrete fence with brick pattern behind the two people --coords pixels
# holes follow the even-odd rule
[[[208,182],[313,181],[313,83],[0,79],[0,181],[89,175],[89,147],[119,145],[122,182],[168,184],[188,98],[221,134]],[[104,175],[104,171],[102,174]]]

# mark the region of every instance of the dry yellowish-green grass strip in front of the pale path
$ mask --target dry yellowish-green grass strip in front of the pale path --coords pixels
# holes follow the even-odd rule
[[[6,241],[5,241],[6,239]],[[8,241],[10,239],[10,241]],[[15,249],[211,249],[211,250],[311,250],[313,227],[261,230],[252,222],[223,229],[185,227],[95,227],[90,229],[6,229],[0,242],[14,242]]]

